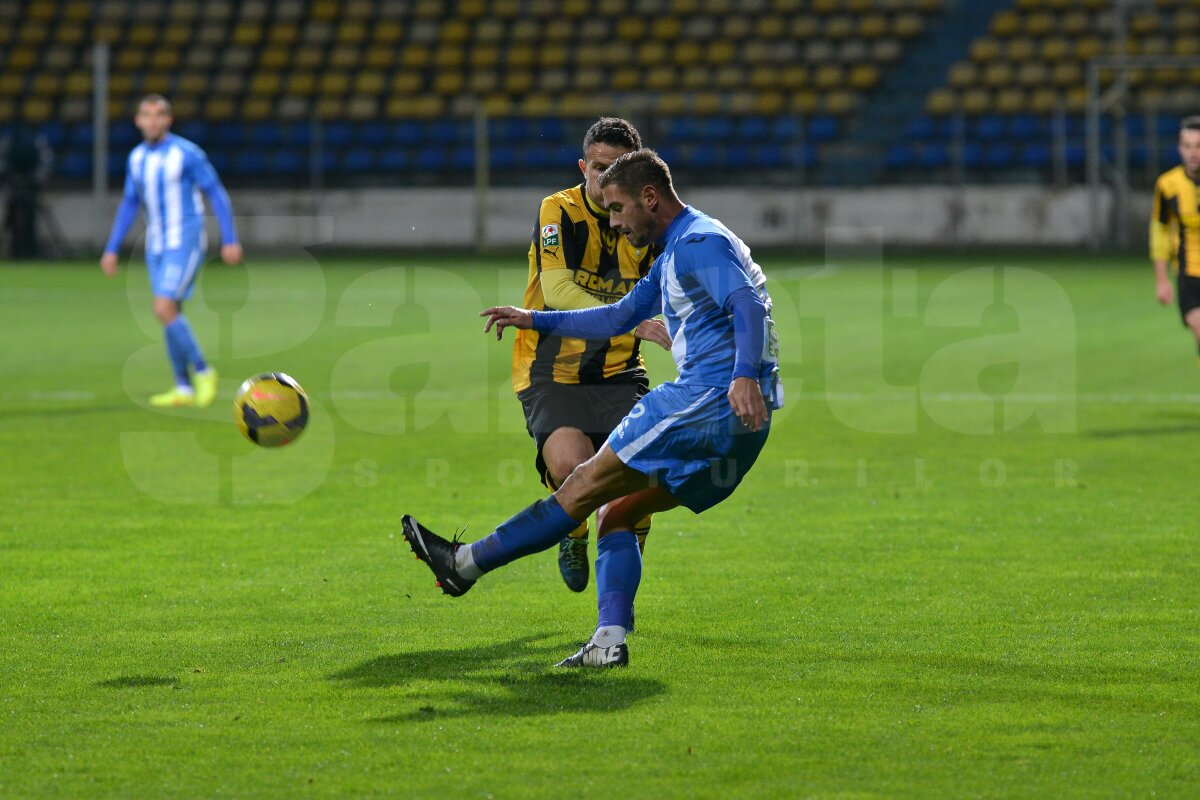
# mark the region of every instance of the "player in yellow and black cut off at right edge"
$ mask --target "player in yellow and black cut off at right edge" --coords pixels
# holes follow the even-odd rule
[[[1180,315],[1200,348],[1200,116],[1180,124],[1180,161],[1154,185],[1150,258],[1156,294],[1164,306],[1171,302],[1168,269],[1176,269]]]

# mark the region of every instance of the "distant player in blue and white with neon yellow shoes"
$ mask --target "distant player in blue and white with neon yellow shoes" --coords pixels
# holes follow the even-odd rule
[[[170,103],[166,97],[148,95],[138,103],[133,121],[144,142],[133,149],[126,163],[125,194],[100,266],[109,277],[116,275],[116,251],[138,207],[144,207],[154,313],[162,323],[175,375],[175,387],[154,395],[150,404],[210,405],[217,393],[217,372],[200,353],[192,326],[184,317],[184,301],[192,294],[208,249],[200,193],[209,198],[221,225],[221,259],[226,264],[238,264],[242,255],[233,209],[204,151],[170,133]]]

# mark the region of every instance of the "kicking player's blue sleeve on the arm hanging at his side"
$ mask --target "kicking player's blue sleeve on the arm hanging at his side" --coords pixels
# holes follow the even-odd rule
[[[733,317],[734,378],[758,380],[767,338],[767,305],[725,236],[701,234],[676,247],[676,272],[696,279]]]

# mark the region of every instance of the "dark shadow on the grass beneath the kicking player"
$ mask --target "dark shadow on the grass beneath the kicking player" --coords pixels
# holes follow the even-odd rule
[[[523,636],[473,648],[418,650],[379,656],[329,676],[364,688],[433,682],[410,699],[413,708],[374,722],[419,722],[478,716],[620,711],[666,691],[666,684],[628,670],[568,670],[551,664],[577,642]]]

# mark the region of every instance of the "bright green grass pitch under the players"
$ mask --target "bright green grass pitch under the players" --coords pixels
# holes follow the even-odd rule
[[[542,493],[475,317],[522,260],[209,264],[203,411],[145,405],[140,259],[0,267],[0,796],[1200,793],[1200,373],[1142,259],[760,254],[787,408],[586,674],[551,553],[451,600],[397,533]]]

